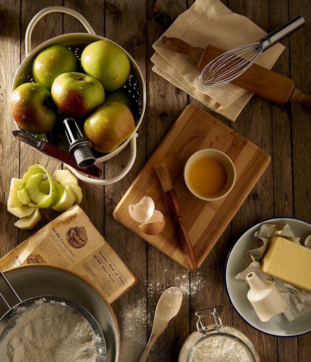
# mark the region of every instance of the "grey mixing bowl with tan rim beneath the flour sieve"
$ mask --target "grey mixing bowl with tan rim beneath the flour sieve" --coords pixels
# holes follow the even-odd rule
[[[120,332],[114,312],[107,300],[86,280],[64,268],[39,264],[23,265],[6,271],[5,276],[22,300],[35,296],[54,295],[80,304],[94,316],[105,336],[106,362],[119,361]],[[0,291],[5,293],[9,304],[14,306],[17,303],[16,297],[13,298],[12,292],[8,293],[7,290],[5,282],[0,278]],[[0,300],[0,316],[6,312],[8,308]],[[71,360],[69,358],[66,362]]]

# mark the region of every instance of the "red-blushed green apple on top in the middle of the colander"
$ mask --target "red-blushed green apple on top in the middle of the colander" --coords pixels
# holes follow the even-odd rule
[[[102,84],[78,72],[59,75],[52,84],[51,94],[56,106],[72,117],[83,117],[105,101]]]

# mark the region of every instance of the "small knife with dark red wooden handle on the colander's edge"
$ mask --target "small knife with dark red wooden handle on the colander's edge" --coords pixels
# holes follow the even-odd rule
[[[52,146],[50,143],[45,142],[37,137],[25,132],[25,131],[12,131],[13,136],[19,141],[25,142],[30,146],[37,148],[37,150],[42,151],[46,155],[52,156],[61,162],[66,163],[67,165],[75,168],[78,171],[81,171],[89,176],[100,177],[102,174],[102,169],[96,165],[91,165],[89,167],[78,167],[77,161],[73,155],[69,152],[63,151],[58,147]]]

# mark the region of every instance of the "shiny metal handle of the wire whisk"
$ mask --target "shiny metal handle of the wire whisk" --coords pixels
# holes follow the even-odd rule
[[[286,38],[289,34],[295,30],[301,28],[304,25],[304,18],[302,16],[296,16],[295,18],[287,21],[286,24],[280,26],[271,33],[265,35],[258,42],[262,43],[263,51],[269,49],[272,45],[278,43],[280,40]]]

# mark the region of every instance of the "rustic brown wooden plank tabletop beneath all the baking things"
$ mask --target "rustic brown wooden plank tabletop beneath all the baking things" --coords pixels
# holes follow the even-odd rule
[[[282,41],[286,49],[273,70],[290,76],[299,90],[310,94],[310,0],[222,2],[267,32],[297,15],[304,16],[306,24],[299,33]],[[233,123],[154,73],[150,61],[154,54],[152,44],[193,3],[193,0],[0,0],[0,256],[58,215],[51,209],[44,210],[41,221],[33,230],[20,231],[14,226],[16,217],[7,211],[12,177],[22,176],[34,163],[42,164],[51,173],[62,167],[61,163],[41,156],[13,138],[11,131],[14,125],[8,101],[14,74],[25,59],[27,25],[39,10],[51,5],[63,5],[81,13],[97,34],[127,50],[139,65],[146,82],[146,112],[138,130],[138,154],[131,171],[121,181],[108,186],[80,182],[84,195],[82,209],[138,279],[132,289],[112,304],[121,334],[120,361],[138,361],[150,336],[156,303],[167,287],[176,285],[183,291],[182,308],[154,345],[148,361],[177,361],[183,342],[195,331],[195,312],[216,307],[224,324],[234,326],[254,342],[261,361],[307,362],[311,355],[311,334],[277,338],[250,327],[230,304],[225,290],[224,269],[231,246],[253,224],[280,216],[311,222],[310,111],[298,104],[281,106],[253,96]],[[84,31],[84,28],[75,18],[61,13],[48,14],[35,27],[32,46],[56,35],[77,31]],[[184,269],[116,222],[112,216],[124,193],[188,104],[206,110],[272,157],[263,176],[195,272]],[[129,150],[125,149],[105,164],[100,164],[106,178],[120,172],[127,164],[128,157]]]

